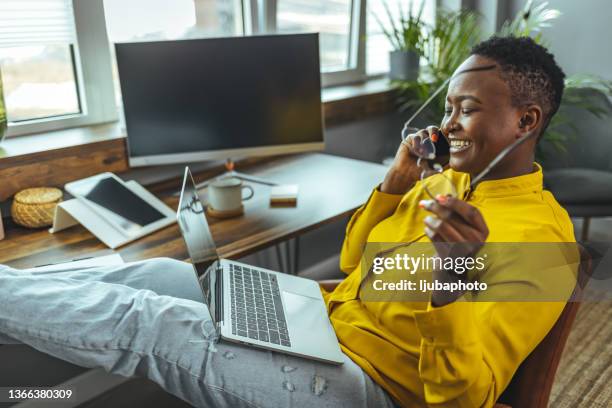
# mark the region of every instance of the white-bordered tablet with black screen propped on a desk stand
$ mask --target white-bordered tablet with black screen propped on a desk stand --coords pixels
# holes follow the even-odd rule
[[[140,234],[145,229],[154,230],[173,216],[156,203],[144,200],[112,173],[77,180],[65,188],[127,236]]]

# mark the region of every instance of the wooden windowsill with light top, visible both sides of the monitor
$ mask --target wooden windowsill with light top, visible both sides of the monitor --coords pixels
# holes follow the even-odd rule
[[[394,109],[386,78],[323,90],[325,126]],[[125,128],[118,122],[5,140],[0,145],[0,201],[34,186],[58,186],[100,172],[129,170]]]

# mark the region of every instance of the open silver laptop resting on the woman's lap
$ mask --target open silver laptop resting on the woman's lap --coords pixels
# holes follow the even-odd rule
[[[220,338],[313,360],[342,364],[319,285],[220,259],[189,167],[177,220]]]

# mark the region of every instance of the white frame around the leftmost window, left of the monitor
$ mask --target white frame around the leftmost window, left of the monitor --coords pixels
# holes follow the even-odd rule
[[[71,45],[80,113],[8,122],[7,138],[118,119],[110,45],[102,0],[73,0],[76,43]]]

